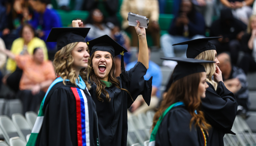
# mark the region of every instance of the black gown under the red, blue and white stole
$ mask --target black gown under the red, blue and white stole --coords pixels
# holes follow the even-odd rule
[[[70,87],[79,87],[67,82],[66,84],[55,84],[45,99],[44,120],[36,146],[77,146],[76,99]],[[95,104],[87,90],[83,91],[89,109],[90,145],[97,146]]]

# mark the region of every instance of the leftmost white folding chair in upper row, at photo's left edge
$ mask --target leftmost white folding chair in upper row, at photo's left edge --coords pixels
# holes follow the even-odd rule
[[[0,128],[2,129],[4,139],[8,144],[10,144],[9,143],[10,137],[15,137],[15,136],[20,136],[20,138],[25,141],[25,137],[22,134],[22,132],[14,126],[12,120],[8,116],[6,115],[0,116]]]

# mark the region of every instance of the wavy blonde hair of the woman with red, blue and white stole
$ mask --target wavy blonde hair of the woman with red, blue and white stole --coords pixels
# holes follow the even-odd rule
[[[71,52],[77,44],[78,42],[74,42],[62,47],[54,56],[53,67],[55,69],[55,73],[63,79],[64,85],[66,85],[65,79],[68,79],[71,83],[76,85],[76,79],[78,76],[76,75],[75,70],[72,69],[74,58],[72,57]],[[90,62],[90,58],[88,62]],[[90,68],[89,63],[88,68]],[[86,73],[84,72],[84,69],[81,69],[79,75],[84,80],[86,87],[90,89],[91,86],[87,82],[89,73]]]

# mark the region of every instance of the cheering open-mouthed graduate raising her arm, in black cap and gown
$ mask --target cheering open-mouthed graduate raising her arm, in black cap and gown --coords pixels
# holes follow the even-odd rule
[[[81,23],[81,22],[80,22]],[[144,80],[148,69],[148,45],[145,28],[135,27],[139,39],[139,57],[137,64],[125,71],[123,55],[127,50],[108,35],[88,41],[91,68],[88,79],[91,82],[90,93],[96,104],[99,120],[100,144],[104,146],[127,145],[127,108],[142,95],[149,105],[152,77]],[[114,77],[115,62],[113,57],[121,57],[120,77]]]

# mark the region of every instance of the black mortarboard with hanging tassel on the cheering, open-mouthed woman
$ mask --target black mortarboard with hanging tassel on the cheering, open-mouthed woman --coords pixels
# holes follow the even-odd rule
[[[91,54],[95,51],[106,51],[106,52],[109,52],[113,57],[116,55],[122,55],[120,77],[123,78],[125,81],[130,80],[130,78],[126,74],[125,67],[124,67],[124,53],[127,52],[127,50],[123,46],[118,44],[115,40],[110,38],[108,35],[103,35],[96,39],[90,40],[87,42],[87,45],[89,47]]]

